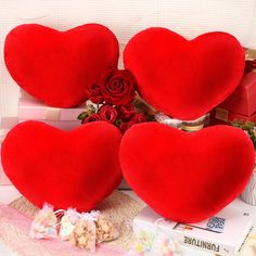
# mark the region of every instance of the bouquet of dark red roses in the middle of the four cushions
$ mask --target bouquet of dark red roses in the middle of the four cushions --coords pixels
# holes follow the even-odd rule
[[[129,71],[110,69],[87,90],[92,104],[88,104],[78,119],[81,124],[108,121],[117,126],[123,133],[135,124],[151,120],[152,117],[145,115],[146,111],[140,110],[143,102],[136,99],[136,80]]]

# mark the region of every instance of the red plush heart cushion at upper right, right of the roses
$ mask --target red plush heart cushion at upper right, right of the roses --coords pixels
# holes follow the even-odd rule
[[[176,118],[195,119],[233,92],[243,75],[244,51],[226,33],[188,41],[166,28],[149,28],[130,39],[124,64],[148,103]]]

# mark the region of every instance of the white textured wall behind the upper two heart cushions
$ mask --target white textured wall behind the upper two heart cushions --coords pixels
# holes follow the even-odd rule
[[[3,43],[10,29],[24,23],[60,30],[101,23],[115,33],[120,50],[150,26],[165,26],[187,38],[223,30],[256,49],[256,0],[0,0],[0,116],[17,112],[18,87],[5,69]]]

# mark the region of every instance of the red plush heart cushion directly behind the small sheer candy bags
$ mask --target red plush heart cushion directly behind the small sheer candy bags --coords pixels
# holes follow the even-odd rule
[[[39,121],[14,127],[2,144],[5,174],[33,204],[90,210],[121,179],[121,135],[107,123],[62,131]]]

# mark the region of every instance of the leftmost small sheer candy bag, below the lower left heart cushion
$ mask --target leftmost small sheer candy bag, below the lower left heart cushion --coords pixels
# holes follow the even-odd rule
[[[53,212],[53,206],[44,204],[35,217],[29,236],[31,239],[56,239],[57,218]]]

